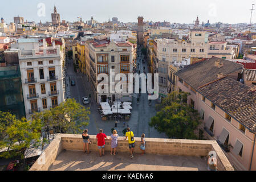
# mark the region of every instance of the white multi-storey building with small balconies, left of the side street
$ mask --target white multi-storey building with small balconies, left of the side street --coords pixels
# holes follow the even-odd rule
[[[19,39],[19,67],[26,117],[58,106],[64,101],[64,49],[46,40]]]

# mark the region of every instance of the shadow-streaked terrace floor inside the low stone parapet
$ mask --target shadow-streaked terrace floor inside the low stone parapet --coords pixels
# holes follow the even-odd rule
[[[146,151],[147,152],[147,151]],[[84,154],[83,151],[62,151],[50,167],[51,171],[206,171],[206,158],[196,156],[169,156],[135,154],[130,159],[127,153],[111,155],[105,152],[99,157],[99,152],[92,151]]]

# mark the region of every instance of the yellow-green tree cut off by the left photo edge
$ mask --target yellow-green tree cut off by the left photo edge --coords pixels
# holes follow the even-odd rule
[[[42,144],[40,140],[42,123],[39,119],[26,121],[25,118],[17,119],[15,115],[0,112],[0,122],[0,149],[5,150],[1,152],[0,157],[21,156],[24,159],[26,148]]]

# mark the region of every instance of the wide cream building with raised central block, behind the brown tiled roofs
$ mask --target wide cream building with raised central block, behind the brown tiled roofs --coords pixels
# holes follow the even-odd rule
[[[168,93],[168,68],[173,63],[181,63],[186,60],[220,57],[233,59],[236,50],[227,47],[226,42],[209,42],[206,31],[190,31],[188,40],[181,39],[157,39],[156,42],[156,69],[159,73],[159,100]],[[153,61],[152,61],[153,63]],[[186,63],[188,65],[190,63]]]

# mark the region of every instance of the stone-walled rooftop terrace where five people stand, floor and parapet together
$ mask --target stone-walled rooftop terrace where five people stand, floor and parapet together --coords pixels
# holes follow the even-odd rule
[[[109,136],[107,136],[109,138]],[[38,170],[206,170],[206,158],[215,151],[218,170],[233,171],[216,141],[145,138],[146,152],[141,156],[140,139],[135,137],[135,158],[129,158],[128,141],[118,138],[117,155],[110,155],[105,141],[105,155],[99,157],[96,135],[90,135],[91,154],[83,153],[81,135],[55,134],[54,140],[39,156],[30,171]]]

